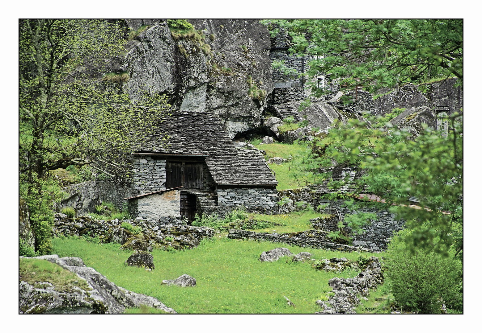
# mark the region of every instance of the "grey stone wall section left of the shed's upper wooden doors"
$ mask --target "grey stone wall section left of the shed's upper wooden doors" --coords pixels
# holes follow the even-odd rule
[[[151,156],[134,158],[134,195],[166,189],[166,161]]]

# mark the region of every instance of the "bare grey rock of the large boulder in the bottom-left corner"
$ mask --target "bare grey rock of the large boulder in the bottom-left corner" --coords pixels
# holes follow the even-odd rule
[[[110,282],[95,269],[85,267],[81,258],[57,255],[38,256],[76,273],[92,288],[86,292],[73,288],[68,292],[57,292],[50,284],[44,289],[34,288],[25,281],[20,282],[20,313],[122,313],[126,307],[157,307],[168,313],[177,313],[166,307],[157,298],[136,294]]]

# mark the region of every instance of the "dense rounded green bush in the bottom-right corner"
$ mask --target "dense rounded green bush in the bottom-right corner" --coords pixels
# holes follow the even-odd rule
[[[409,252],[403,237],[410,232],[401,231],[386,252],[386,275],[396,303],[405,311],[440,313],[443,299],[449,309],[462,310],[462,263],[451,252]]]

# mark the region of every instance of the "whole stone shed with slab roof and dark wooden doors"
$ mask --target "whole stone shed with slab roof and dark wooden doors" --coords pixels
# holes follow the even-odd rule
[[[263,154],[236,148],[217,114],[172,111],[159,127],[132,153],[131,216],[192,221],[196,213],[224,217],[239,206],[268,214],[275,210],[278,182]],[[167,141],[159,141],[161,135]]]

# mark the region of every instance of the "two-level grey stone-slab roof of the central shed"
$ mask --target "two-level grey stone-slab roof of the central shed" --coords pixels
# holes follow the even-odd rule
[[[170,113],[162,118],[161,130],[138,142],[135,152],[209,155],[205,161],[217,184],[278,184],[259,151],[234,146],[219,115],[193,111]],[[160,141],[161,135],[169,139]]]

